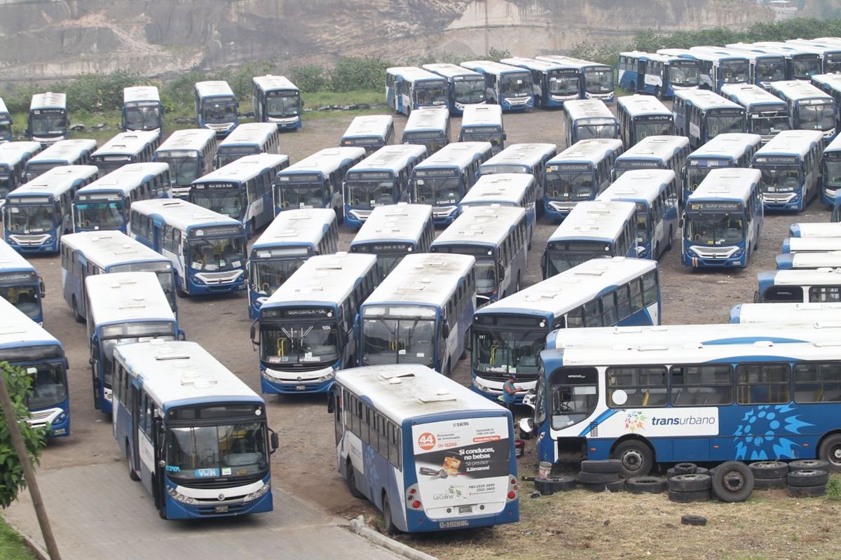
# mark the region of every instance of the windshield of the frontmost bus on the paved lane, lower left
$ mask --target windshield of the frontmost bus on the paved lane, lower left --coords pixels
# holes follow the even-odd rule
[[[171,479],[258,474],[267,471],[267,457],[263,422],[167,429],[167,476]]]

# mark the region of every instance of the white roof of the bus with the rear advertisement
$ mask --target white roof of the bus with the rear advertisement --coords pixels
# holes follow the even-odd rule
[[[374,403],[378,412],[398,424],[426,417],[434,421],[436,415],[452,417],[458,411],[507,414],[492,400],[421,364],[340,369],[336,383]]]

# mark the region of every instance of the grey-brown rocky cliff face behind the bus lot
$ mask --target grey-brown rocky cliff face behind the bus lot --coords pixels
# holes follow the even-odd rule
[[[772,19],[752,0],[0,0],[0,69],[23,80],[424,50],[533,55]]]

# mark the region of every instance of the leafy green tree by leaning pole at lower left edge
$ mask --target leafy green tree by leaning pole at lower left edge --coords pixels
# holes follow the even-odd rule
[[[32,379],[24,369],[14,368],[8,362],[0,362],[0,375],[6,381],[9,396],[12,399],[12,410],[18,418],[24,445],[29,454],[29,460],[38,464],[41,449],[46,444],[45,428],[29,426],[25,418],[29,416],[26,399],[32,392]],[[0,405],[2,411],[2,405]],[[14,452],[12,437],[8,430],[5,416],[0,415],[0,507],[7,508],[18,496],[18,492],[26,488],[24,468]]]

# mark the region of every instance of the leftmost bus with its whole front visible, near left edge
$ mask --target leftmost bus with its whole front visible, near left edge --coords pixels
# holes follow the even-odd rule
[[[58,253],[73,233],[73,197],[97,175],[94,165],[62,165],[8,193],[3,238],[20,253]]]

